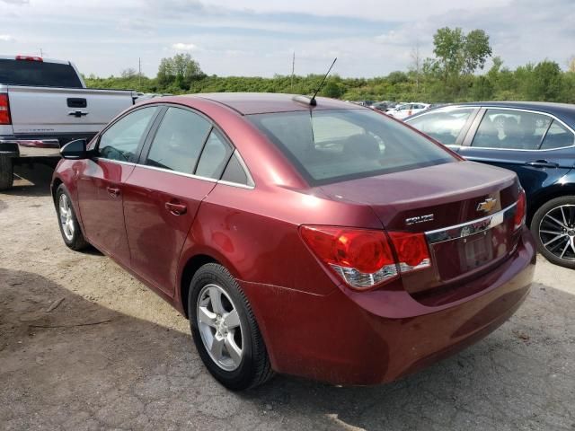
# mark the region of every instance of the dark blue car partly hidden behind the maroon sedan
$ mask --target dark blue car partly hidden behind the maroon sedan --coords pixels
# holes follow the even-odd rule
[[[405,121],[466,159],[517,172],[539,252],[575,268],[575,105],[462,103]]]

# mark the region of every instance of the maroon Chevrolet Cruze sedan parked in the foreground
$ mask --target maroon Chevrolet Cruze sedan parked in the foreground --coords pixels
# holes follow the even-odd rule
[[[62,155],[66,245],[172,303],[231,389],[392,381],[489,334],[532,281],[515,173],[357,105],[154,99]]]

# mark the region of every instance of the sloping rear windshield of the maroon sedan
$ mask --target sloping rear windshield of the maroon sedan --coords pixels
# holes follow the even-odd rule
[[[371,110],[310,110],[247,116],[311,185],[407,171],[456,158]]]

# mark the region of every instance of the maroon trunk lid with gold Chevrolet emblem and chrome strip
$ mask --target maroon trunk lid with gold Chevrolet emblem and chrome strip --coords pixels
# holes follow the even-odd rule
[[[426,233],[431,268],[403,277],[411,294],[482,273],[517,246],[513,216],[519,188],[514,172],[456,162],[322,189],[331,198],[369,205],[387,231]]]

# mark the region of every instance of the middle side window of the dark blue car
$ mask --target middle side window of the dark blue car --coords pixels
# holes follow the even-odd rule
[[[472,146],[506,150],[536,150],[552,119],[522,110],[487,110]]]

